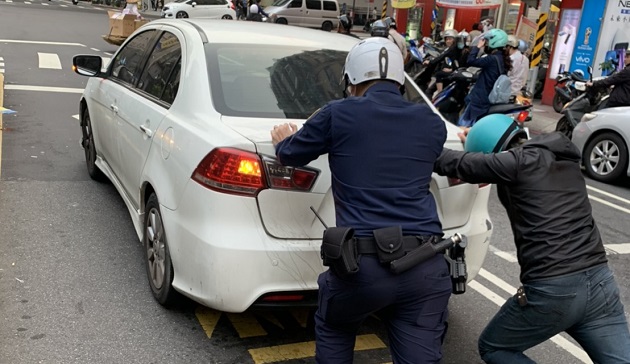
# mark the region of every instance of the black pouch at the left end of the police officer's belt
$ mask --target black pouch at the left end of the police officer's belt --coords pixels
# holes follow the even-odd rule
[[[324,230],[322,260],[337,275],[347,276],[359,271],[359,254],[354,229],[331,227]]]

